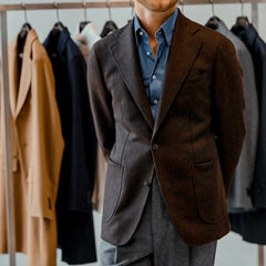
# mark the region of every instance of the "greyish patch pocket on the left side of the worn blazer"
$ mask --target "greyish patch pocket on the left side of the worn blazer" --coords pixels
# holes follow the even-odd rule
[[[102,221],[108,223],[119,205],[123,184],[124,167],[122,164],[108,160],[108,172],[104,191],[103,216]]]

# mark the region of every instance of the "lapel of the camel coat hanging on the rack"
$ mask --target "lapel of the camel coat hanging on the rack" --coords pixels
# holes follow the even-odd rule
[[[35,39],[38,39],[37,33],[34,30],[31,30],[27,35],[25,44],[24,44],[23,61],[22,61],[21,76],[20,76],[20,84],[19,84],[19,94],[18,94],[18,102],[16,108],[16,117],[20,113],[30,89],[32,42]]]

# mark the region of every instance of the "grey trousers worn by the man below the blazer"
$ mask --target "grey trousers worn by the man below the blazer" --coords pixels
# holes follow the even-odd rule
[[[213,266],[216,243],[196,247],[184,243],[171,221],[154,175],[142,219],[133,237],[123,246],[102,241],[100,265]]]

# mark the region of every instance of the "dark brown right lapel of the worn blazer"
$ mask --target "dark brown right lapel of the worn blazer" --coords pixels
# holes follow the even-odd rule
[[[201,51],[202,43],[194,38],[198,30],[197,24],[192,23],[178,10],[153,135],[162,124]]]

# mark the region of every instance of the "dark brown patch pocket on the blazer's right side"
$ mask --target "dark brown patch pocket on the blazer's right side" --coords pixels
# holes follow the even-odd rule
[[[193,165],[193,181],[197,209],[208,223],[218,223],[227,216],[226,196],[219,160]]]

